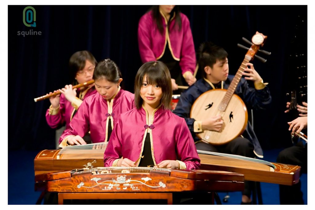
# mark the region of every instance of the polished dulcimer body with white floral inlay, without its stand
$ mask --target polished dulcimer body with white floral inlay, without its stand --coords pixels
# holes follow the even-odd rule
[[[140,173],[53,172],[35,176],[35,190],[49,192],[242,191],[244,175],[224,171],[151,170]],[[105,173],[102,173],[102,172]]]

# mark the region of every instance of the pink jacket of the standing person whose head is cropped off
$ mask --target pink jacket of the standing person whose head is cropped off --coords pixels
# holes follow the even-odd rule
[[[160,12],[161,13],[161,12]],[[187,16],[180,13],[182,21],[181,30],[175,27],[174,16],[170,21],[170,32],[167,29],[167,20],[161,13],[161,20],[163,21],[164,34],[157,29],[157,25],[153,20],[152,11],[144,14],[138,25],[138,44],[140,57],[143,63],[148,61],[159,60],[169,47],[174,60],[179,61],[182,74],[186,71],[191,71],[192,74],[196,68],[196,54],[195,46],[192,39],[192,31]],[[168,41],[168,46],[166,43]]]

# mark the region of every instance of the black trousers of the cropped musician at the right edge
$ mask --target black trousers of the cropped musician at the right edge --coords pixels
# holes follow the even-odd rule
[[[282,150],[277,158],[278,163],[301,166],[301,173],[307,173],[307,144],[302,142]],[[304,204],[301,181],[292,186],[279,184],[280,204]]]

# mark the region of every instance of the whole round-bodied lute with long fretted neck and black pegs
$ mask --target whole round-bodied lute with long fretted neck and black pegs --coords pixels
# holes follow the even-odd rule
[[[239,67],[235,77],[233,78],[229,88],[213,89],[201,94],[192,105],[190,117],[197,121],[204,121],[209,116],[221,115],[223,125],[221,132],[204,130],[203,132],[196,133],[199,139],[205,143],[221,145],[232,141],[241,135],[248,122],[247,108],[243,100],[234,94],[238,82],[242,78],[242,73],[246,68],[246,63],[251,61],[254,56],[266,62],[265,59],[257,56],[257,51],[270,55],[271,53],[259,48],[264,45],[267,36],[259,33],[258,31],[252,37],[252,42],[243,38],[244,41],[251,44],[250,48],[238,44],[239,47],[248,49],[245,58]]]

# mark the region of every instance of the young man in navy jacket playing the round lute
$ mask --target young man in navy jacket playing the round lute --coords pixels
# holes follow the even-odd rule
[[[223,145],[211,145],[199,141],[195,133],[203,130],[220,131],[222,129],[223,120],[221,116],[209,116],[208,120],[196,121],[190,118],[192,104],[202,93],[215,89],[227,89],[233,79],[233,75],[228,75],[229,65],[227,52],[210,42],[203,43],[199,48],[199,66],[202,69],[203,78],[194,83],[184,93],[181,94],[179,102],[174,110],[178,116],[185,118],[188,128],[195,139],[197,150],[214,151],[228,154],[235,154],[247,157],[263,157],[262,149],[259,141],[254,133],[253,128],[247,123],[246,130],[242,137],[233,139]],[[248,109],[265,109],[271,103],[271,95],[266,83],[263,83],[260,75],[255,71],[253,64],[247,63],[249,66],[244,69],[244,78],[241,78],[235,89],[245,102]],[[255,88],[250,88],[247,80],[254,82]],[[219,102],[220,103],[220,102]],[[251,204],[251,191],[249,182],[245,181],[245,191],[242,193],[242,204]]]

